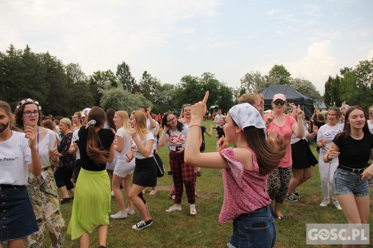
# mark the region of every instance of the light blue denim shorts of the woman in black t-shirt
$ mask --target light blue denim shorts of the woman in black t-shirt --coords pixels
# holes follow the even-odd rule
[[[362,175],[337,168],[333,177],[336,194],[354,194],[355,197],[369,195],[368,179],[362,180]]]

